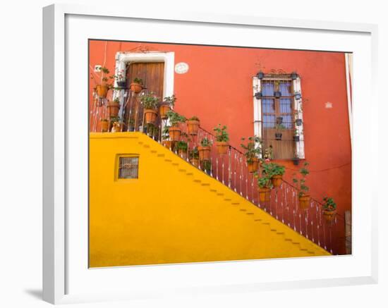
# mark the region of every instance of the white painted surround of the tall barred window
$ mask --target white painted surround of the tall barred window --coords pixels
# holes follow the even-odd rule
[[[257,99],[255,97],[256,92],[261,92],[261,81],[262,80],[276,80],[277,78],[262,78],[261,80],[257,78],[257,76],[253,77],[253,123],[254,128],[253,131],[255,136],[262,139],[262,99]],[[284,78],[281,78],[284,80]],[[291,78],[290,78],[291,80]],[[294,97],[294,111],[296,114],[294,116],[294,120],[300,118],[302,120],[302,124],[299,126],[295,125],[296,130],[298,130],[299,141],[296,141],[296,155],[299,159],[305,159],[305,142],[304,142],[304,134],[303,134],[303,109],[302,109],[302,88],[301,88],[301,78],[297,77],[293,82],[293,92],[300,93],[301,99],[296,99]],[[261,155],[261,154],[260,154]]]

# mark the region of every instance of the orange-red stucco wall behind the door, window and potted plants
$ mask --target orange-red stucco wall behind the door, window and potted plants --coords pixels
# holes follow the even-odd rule
[[[289,51],[179,44],[108,42],[105,66],[114,71],[117,51],[143,46],[151,51],[174,51],[175,63],[188,63],[185,74],[174,75],[176,111],[198,116],[201,126],[212,130],[227,125],[231,145],[253,135],[252,77],[282,69],[301,76],[305,158],[310,162],[308,180],[315,199],[334,197],[339,214],[351,209],[351,142],[346,97],[345,58],[342,53]],[[90,41],[90,65],[104,64],[105,42]],[[93,83],[90,82],[90,97]],[[325,104],[332,103],[332,109]],[[282,161],[291,179],[296,166]],[[341,228],[339,228],[341,230]],[[342,233],[342,231],[340,231]]]

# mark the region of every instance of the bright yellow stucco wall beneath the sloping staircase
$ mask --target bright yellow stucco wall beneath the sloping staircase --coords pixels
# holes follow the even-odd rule
[[[117,180],[119,154],[139,178]],[[141,133],[90,134],[90,267],[329,255]]]

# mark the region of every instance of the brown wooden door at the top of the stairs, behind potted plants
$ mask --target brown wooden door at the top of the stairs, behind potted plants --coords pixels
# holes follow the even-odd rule
[[[140,104],[142,94],[153,92],[162,101],[163,84],[164,84],[164,62],[135,62],[129,63],[126,68],[127,87],[135,78],[143,80],[145,89],[140,94],[130,93],[129,104],[126,105],[124,116],[124,129],[128,128],[128,123],[131,121],[138,130],[140,125],[143,125],[143,108]],[[159,123],[156,123],[159,127]]]

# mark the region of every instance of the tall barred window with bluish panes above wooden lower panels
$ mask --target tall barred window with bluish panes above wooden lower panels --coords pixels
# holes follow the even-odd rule
[[[292,159],[296,156],[293,82],[281,78],[260,82],[263,148],[272,159]]]

